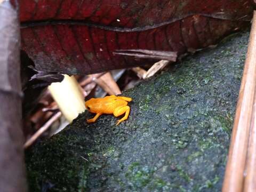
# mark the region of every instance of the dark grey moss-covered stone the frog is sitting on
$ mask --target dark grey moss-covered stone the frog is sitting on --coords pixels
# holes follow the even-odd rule
[[[127,121],[80,115],[26,153],[30,191],[220,191],[248,33],[124,93]]]

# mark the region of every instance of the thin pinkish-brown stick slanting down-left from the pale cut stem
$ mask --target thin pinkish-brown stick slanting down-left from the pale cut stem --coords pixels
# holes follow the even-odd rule
[[[51,125],[53,122],[57,121],[61,117],[61,112],[59,111],[57,114],[53,115],[49,121],[47,121],[31,138],[29,138],[26,143],[24,144],[24,148],[28,148],[31,146],[42,133],[44,133]]]

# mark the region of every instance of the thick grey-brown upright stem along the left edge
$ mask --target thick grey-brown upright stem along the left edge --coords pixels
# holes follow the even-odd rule
[[[13,7],[16,6],[16,7]],[[0,191],[25,192],[18,4],[0,1]]]

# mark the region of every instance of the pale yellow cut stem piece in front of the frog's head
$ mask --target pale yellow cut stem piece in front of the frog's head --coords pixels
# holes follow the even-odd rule
[[[72,122],[80,113],[85,111],[85,101],[76,79],[73,76],[64,76],[62,82],[52,83],[48,89],[62,114],[69,122]]]

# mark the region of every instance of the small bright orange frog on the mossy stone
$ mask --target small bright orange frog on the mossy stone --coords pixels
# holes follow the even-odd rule
[[[128,118],[130,113],[130,107],[127,106],[127,104],[131,100],[132,98],[110,95],[106,96],[105,98],[92,98],[86,101],[85,107],[91,113],[96,114],[93,118],[87,119],[87,123],[95,122],[97,118],[99,118],[99,116],[101,116],[102,114],[113,114],[115,117],[118,117],[125,113],[124,117],[117,121],[116,125],[118,125],[119,123]]]

